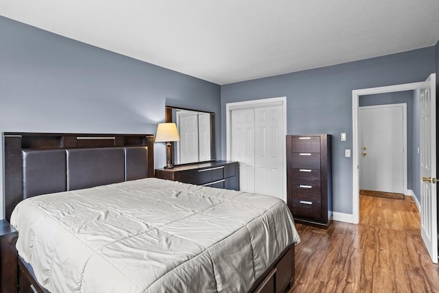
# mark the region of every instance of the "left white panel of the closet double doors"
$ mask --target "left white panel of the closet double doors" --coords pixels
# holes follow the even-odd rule
[[[239,190],[254,192],[254,108],[231,111],[231,160],[239,162]]]

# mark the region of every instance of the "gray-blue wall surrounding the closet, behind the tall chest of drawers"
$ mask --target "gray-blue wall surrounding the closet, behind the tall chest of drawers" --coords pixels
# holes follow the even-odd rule
[[[287,133],[333,134],[333,210],[352,214],[352,91],[425,80],[436,72],[435,47],[288,73],[221,87],[222,156],[226,103],[287,97]],[[324,54],[324,52],[322,52]],[[346,132],[347,141],[340,141]]]

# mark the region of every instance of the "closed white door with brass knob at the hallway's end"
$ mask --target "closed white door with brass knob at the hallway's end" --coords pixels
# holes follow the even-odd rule
[[[359,109],[361,189],[403,194],[403,106],[366,106]]]

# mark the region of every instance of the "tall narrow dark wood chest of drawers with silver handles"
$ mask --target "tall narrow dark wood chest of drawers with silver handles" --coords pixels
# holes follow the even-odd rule
[[[330,134],[287,135],[287,204],[296,222],[331,224]]]

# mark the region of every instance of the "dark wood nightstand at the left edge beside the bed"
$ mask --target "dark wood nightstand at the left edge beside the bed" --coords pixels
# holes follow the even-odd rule
[[[19,233],[7,220],[0,220],[0,292],[17,292],[16,237]]]

